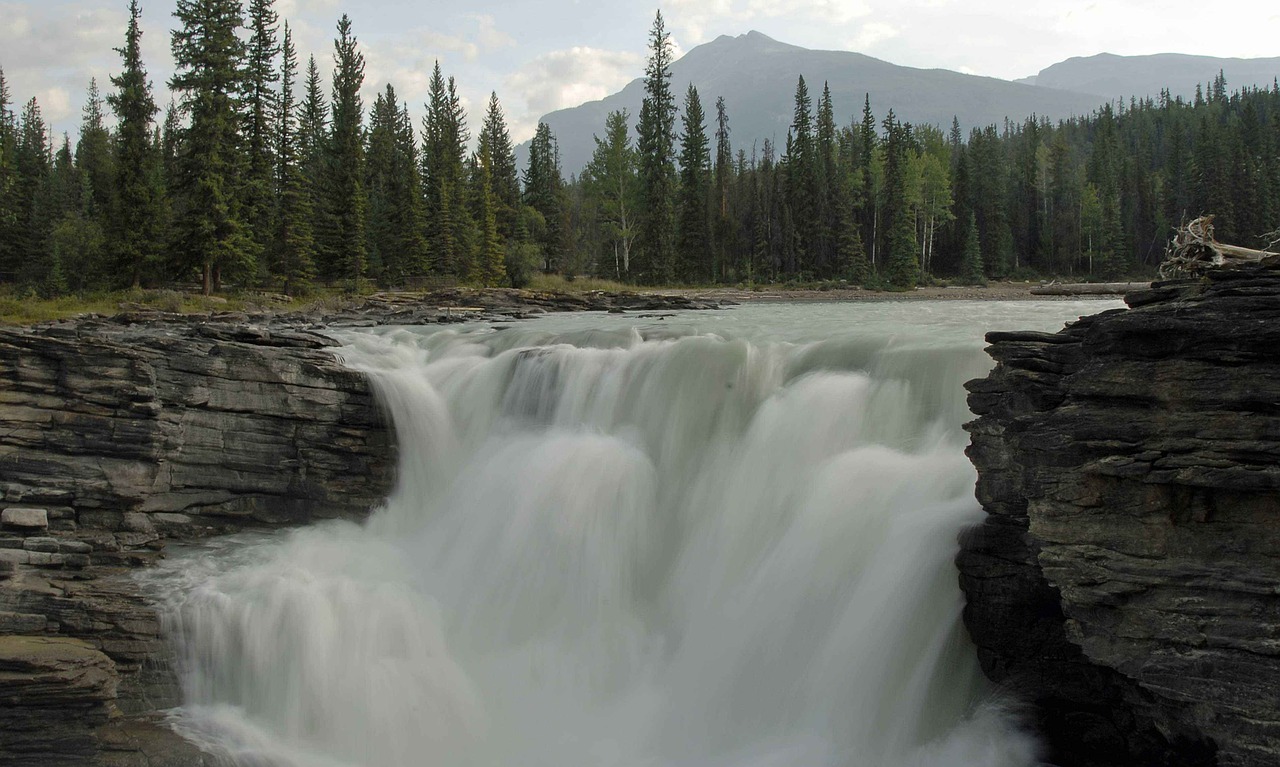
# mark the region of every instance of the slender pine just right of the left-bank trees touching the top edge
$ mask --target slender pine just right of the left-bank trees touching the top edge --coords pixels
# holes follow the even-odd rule
[[[312,69],[315,59],[311,60]],[[284,295],[306,291],[315,277],[315,232],[312,198],[301,164],[301,141],[294,118],[293,77],[298,58],[293,49],[289,24],[284,24],[283,60],[280,64],[280,111],[278,115],[275,161],[280,209],[271,273],[283,280]]]

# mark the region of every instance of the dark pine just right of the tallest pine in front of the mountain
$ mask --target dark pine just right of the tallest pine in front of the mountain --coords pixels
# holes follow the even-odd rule
[[[707,218],[710,154],[707,118],[698,88],[685,93],[684,132],[680,137],[680,188],[676,201],[676,256],[686,283],[710,279],[710,224]]]

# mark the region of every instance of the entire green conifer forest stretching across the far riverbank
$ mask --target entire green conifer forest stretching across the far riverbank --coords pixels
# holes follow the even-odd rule
[[[730,105],[676,93],[662,14],[640,114],[608,115],[564,178],[539,124],[527,165],[497,93],[472,142],[436,63],[415,125],[392,85],[366,110],[364,56],[343,15],[328,83],[300,73],[271,0],[179,0],[161,120],[141,60],[137,0],[122,73],[91,82],[79,140],[55,143],[0,69],[0,280],[60,295],[197,280],[305,292],[440,282],[527,283],[536,271],[637,284],[1151,271],[1201,213],[1224,242],[1280,224],[1280,86],[1193,100],[1130,99],[1056,124],[1038,117],[943,132],[870,100],[837,122],[797,78],[785,143],[735,146]],[[108,109],[115,117],[108,127]],[[474,149],[472,149],[474,145]]]

